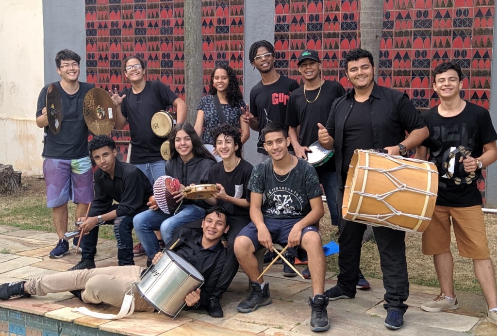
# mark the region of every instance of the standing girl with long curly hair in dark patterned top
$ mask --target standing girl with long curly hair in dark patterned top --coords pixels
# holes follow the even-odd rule
[[[225,116],[226,123],[235,126],[242,132],[242,143],[248,140],[250,130],[248,124],[242,122],[242,115],[246,104],[242,91],[238,85],[238,78],[233,69],[227,65],[217,66],[211,74],[209,95],[203,97],[197,107],[197,120],[195,121],[195,131],[201,137],[202,142],[209,150],[213,150],[215,140],[210,132],[215,127],[221,125],[214,98],[217,96],[221,103],[221,109]],[[220,159],[219,159],[220,160]]]

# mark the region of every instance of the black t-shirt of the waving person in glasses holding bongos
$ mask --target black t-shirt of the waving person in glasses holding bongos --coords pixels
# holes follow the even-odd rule
[[[161,81],[147,81],[140,93],[126,87],[119,94],[126,94],[121,112],[128,119],[131,133],[130,163],[140,165],[163,160],[161,145],[166,139],[156,136],[150,123],[156,112],[166,110],[178,96]]]

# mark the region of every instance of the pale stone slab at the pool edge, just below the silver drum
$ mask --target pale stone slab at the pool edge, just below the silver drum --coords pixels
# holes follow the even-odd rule
[[[121,335],[157,336],[167,331],[191,322],[185,317],[172,320],[162,314],[135,313],[131,318],[110,321],[98,327],[99,330]]]

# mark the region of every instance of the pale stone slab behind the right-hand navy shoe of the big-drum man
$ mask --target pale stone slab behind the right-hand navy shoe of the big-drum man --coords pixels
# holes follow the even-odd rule
[[[373,307],[366,313],[380,316],[383,319],[387,316],[387,311],[382,306]],[[404,321],[409,321],[409,323],[418,326],[437,326],[439,329],[467,332],[473,329],[480,319],[449,312],[428,313],[419,308],[412,307],[404,315]]]

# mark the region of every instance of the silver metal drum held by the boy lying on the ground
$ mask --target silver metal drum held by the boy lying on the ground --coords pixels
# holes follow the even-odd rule
[[[159,312],[175,317],[185,297],[204,283],[204,277],[188,261],[172,251],[150,266],[137,283],[138,292]]]

